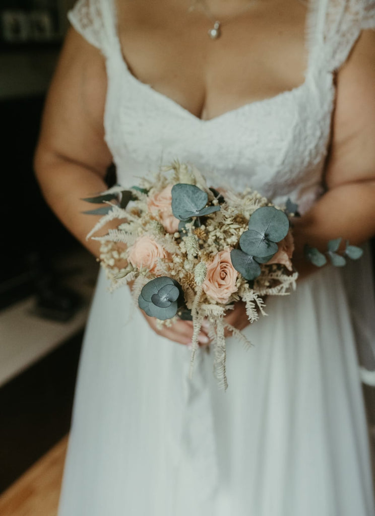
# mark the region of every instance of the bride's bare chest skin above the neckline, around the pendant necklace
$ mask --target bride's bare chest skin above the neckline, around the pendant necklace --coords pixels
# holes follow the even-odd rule
[[[224,16],[222,36],[214,41],[207,35],[213,22],[202,9],[189,13],[185,0],[117,4],[119,43],[131,73],[197,118],[212,119],[303,83],[307,14],[301,2],[238,2],[251,9]],[[231,4],[236,8],[236,2],[227,8]]]

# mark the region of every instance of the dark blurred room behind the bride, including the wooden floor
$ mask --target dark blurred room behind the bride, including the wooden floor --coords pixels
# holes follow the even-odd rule
[[[46,206],[32,171],[45,93],[73,3],[0,1],[2,516],[56,515],[97,274],[93,257]],[[364,388],[372,439],[374,391]]]

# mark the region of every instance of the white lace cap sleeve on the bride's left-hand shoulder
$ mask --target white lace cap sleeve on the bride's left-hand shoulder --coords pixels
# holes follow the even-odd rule
[[[105,56],[113,38],[111,2],[102,0],[78,0],[68,12],[68,19],[75,30]]]

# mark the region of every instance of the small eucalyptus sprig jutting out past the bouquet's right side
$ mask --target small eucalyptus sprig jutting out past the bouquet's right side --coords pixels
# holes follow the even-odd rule
[[[329,240],[327,244],[327,251],[321,253],[315,247],[310,247],[309,245],[305,245],[304,254],[306,259],[311,262],[313,265],[317,267],[322,267],[327,263],[327,256],[332,265],[335,267],[344,267],[347,263],[346,257],[351,260],[358,260],[361,258],[363,254],[363,250],[360,247],[349,245],[349,240],[346,241],[346,246],[344,251],[338,251],[342,238],[334,238],[333,240]]]

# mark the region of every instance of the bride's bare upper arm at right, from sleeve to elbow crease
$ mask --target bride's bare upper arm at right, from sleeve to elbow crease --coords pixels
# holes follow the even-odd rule
[[[326,182],[375,180],[375,30],[363,30],[337,73]]]

